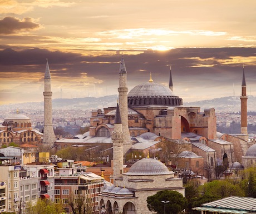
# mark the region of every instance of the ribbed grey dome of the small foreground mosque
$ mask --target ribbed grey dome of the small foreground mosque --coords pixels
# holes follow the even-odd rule
[[[164,163],[153,158],[143,158],[131,166],[124,175],[169,175],[171,172]]]

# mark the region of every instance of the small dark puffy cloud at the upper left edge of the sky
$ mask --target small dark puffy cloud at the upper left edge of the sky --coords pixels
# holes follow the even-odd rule
[[[0,34],[13,34],[38,29],[40,27],[40,24],[33,22],[33,19],[28,17],[21,20],[8,16],[0,20]]]

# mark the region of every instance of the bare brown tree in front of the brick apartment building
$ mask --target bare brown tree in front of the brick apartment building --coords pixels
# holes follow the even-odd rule
[[[68,198],[68,205],[70,205],[73,214],[91,214],[91,198],[84,192],[78,191],[78,194],[72,193]]]

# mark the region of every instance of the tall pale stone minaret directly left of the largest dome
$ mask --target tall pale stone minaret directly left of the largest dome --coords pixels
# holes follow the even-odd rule
[[[124,140],[124,155],[131,148],[130,132],[128,127],[128,98],[127,98],[127,72],[125,68],[125,61],[122,57],[119,69],[119,104],[122,120],[122,131],[125,133]]]

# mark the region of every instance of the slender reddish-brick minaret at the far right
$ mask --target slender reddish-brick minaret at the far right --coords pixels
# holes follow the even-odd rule
[[[244,66],[243,66],[243,80],[242,80],[242,94],[240,96],[241,99],[241,133],[246,135],[244,140],[248,140],[248,132],[247,132],[247,94],[246,94],[246,83],[245,83],[245,75],[244,75]]]

